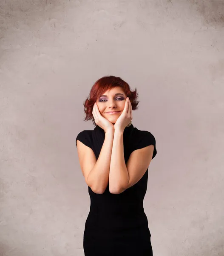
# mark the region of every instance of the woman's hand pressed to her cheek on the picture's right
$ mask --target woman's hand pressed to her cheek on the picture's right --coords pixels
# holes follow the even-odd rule
[[[116,120],[114,124],[114,130],[124,131],[125,127],[132,120],[132,106],[130,103],[130,99],[127,97],[125,102],[125,108],[122,111],[122,114]]]

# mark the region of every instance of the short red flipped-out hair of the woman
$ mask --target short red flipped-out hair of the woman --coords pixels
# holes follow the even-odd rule
[[[96,126],[94,116],[92,114],[94,103],[103,93],[105,93],[105,91],[110,90],[113,87],[121,87],[125,95],[130,99],[132,110],[138,109],[137,105],[139,104],[139,101],[137,101],[137,98],[139,93],[137,93],[136,89],[131,91],[129,84],[122,80],[120,77],[104,76],[95,82],[91,88],[88,98],[85,100],[84,111],[86,116],[84,121],[92,119],[93,124]]]

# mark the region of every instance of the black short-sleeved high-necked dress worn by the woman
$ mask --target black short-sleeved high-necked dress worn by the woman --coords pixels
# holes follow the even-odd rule
[[[156,140],[148,131],[133,125],[125,128],[123,135],[125,163],[132,151],[154,145]],[[90,147],[99,157],[105,132],[99,126],[85,130],[76,138]],[[120,194],[111,194],[109,185],[103,194],[94,193],[90,187],[90,212],[85,222],[83,248],[85,256],[152,256],[150,230],[143,208],[147,190],[148,168],[139,182]]]

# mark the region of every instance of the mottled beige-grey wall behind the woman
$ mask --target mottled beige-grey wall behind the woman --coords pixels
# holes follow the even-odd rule
[[[155,256],[224,255],[224,1],[0,1],[0,256],[83,256],[75,138],[102,76],[156,137]]]

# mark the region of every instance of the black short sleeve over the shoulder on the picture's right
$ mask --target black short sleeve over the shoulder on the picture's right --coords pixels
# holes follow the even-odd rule
[[[137,136],[137,139],[133,145],[133,150],[145,148],[149,145],[154,145],[154,151],[153,151],[153,157],[156,156],[157,150],[156,150],[156,139],[149,131],[139,131],[139,135]]]

